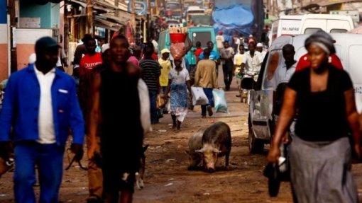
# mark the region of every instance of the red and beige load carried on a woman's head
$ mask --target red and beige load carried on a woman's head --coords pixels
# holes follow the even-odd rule
[[[170,28],[170,52],[174,59],[181,59],[185,55],[185,37],[187,28]]]

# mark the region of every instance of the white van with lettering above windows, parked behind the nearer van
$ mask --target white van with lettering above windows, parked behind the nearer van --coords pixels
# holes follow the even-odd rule
[[[273,21],[269,33],[269,45],[282,35],[312,34],[318,30],[327,33],[346,33],[354,28],[351,16],[330,14],[305,14],[280,16]]]

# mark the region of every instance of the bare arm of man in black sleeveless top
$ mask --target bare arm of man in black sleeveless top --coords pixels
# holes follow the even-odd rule
[[[101,88],[101,75],[99,73],[94,74],[92,82],[92,105],[89,112],[89,138],[91,146],[88,147],[87,156],[92,159],[94,151],[97,149],[97,130],[100,114],[100,88]]]

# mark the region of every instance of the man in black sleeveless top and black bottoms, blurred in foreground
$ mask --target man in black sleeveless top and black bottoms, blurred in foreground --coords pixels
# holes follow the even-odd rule
[[[109,64],[104,64],[106,67],[94,74],[92,84],[87,154],[92,159],[94,152],[99,150],[97,129],[100,124],[103,189],[107,202],[132,202],[135,173],[143,153],[138,96],[141,70],[127,63],[128,47],[124,36],[118,35],[111,40]]]

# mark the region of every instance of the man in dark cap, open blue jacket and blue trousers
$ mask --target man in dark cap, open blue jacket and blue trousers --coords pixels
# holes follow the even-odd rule
[[[35,64],[11,74],[6,86],[0,114],[0,156],[9,158],[12,140],[14,195],[18,203],[35,203],[35,165],[40,183],[39,202],[59,202],[69,129],[75,159],[82,159],[84,120],[74,79],[55,69],[58,50],[53,38],[40,38],[35,42]]]

